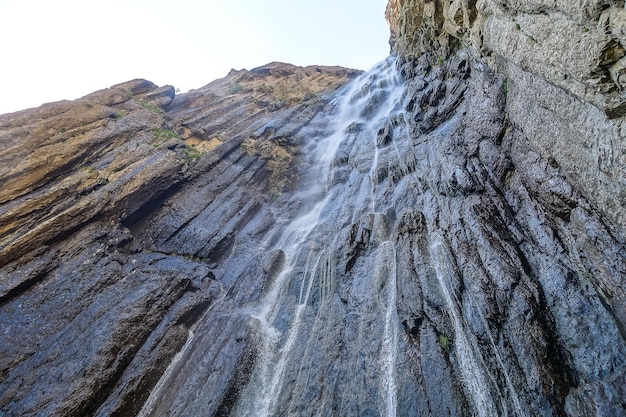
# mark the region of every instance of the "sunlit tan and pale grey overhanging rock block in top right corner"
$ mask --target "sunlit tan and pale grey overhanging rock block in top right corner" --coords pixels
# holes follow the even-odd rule
[[[398,53],[446,56],[459,46],[495,53],[601,108],[624,115],[626,11],[620,1],[391,0]]]

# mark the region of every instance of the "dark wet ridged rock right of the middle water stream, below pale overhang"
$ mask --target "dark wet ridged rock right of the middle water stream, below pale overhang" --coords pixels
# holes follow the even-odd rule
[[[467,413],[463,401],[476,415],[620,415],[623,234],[603,219],[604,207],[570,182],[571,173],[542,157],[527,136],[520,117],[528,107],[512,107],[518,94],[512,89],[528,86],[512,87],[509,80],[506,91],[505,76],[470,56],[454,54],[409,87],[413,129],[421,137],[415,153],[427,157],[417,168],[423,203],[419,212],[403,214],[408,231],[402,239],[409,240],[399,247],[414,249],[405,252],[409,261],[400,259],[415,270],[398,288],[398,315],[413,335],[410,351],[417,349],[409,356],[420,358],[424,378],[437,375],[423,394],[431,406],[457,410],[451,415]],[[442,89],[446,94],[437,101]],[[603,253],[603,260],[591,253]],[[442,270],[442,264],[448,266]],[[446,318],[433,319],[441,314],[434,306],[442,305]],[[434,337],[426,331],[429,320],[436,323]],[[608,327],[592,330],[598,323]],[[430,359],[429,343],[434,338],[443,347],[441,334],[479,348],[450,349],[446,371]],[[491,365],[481,371],[481,363]],[[452,401],[439,394],[448,378],[458,383],[444,396]],[[473,384],[489,388],[483,396]],[[454,387],[464,393],[460,403]]]

